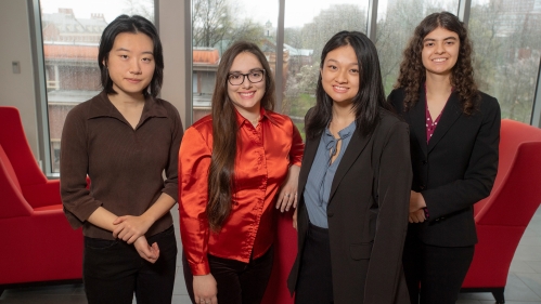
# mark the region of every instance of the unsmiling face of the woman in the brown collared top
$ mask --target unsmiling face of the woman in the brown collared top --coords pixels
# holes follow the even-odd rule
[[[154,43],[141,32],[118,34],[106,65],[113,89],[118,94],[140,96],[154,75]]]

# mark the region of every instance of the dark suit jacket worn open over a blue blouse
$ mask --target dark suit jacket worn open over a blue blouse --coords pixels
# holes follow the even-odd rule
[[[356,130],[338,164],[327,206],[336,304],[409,303],[401,263],[412,176],[408,138],[407,123],[382,109],[374,133],[361,136]],[[320,137],[306,142],[299,194],[305,190],[319,143]],[[309,224],[304,196],[297,224],[298,254],[287,280],[292,293]]]

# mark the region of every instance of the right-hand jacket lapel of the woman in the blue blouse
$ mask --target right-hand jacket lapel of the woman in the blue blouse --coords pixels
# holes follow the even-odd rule
[[[331,194],[329,195],[330,203],[334,196],[334,193],[342,182],[342,179],[344,179],[344,175],[346,175],[351,166],[353,166],[353,162],[357,160],[359,155],[366,147],[366,144],[369,143],[371,136],[372,135],[360,136],[358,129],[356,129],[353,134],[351,134],[351,140],[348,144],[348,147],[346,148],[340,163],[338,163],[338,168],[336,169],[336,173],[334,174],[333,184],[331,186]]]

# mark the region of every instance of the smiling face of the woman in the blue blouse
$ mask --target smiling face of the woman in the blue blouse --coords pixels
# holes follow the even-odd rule
[[[335,103],[351,104],[359,92],[359,68],[357,55],[349,44],[326,54],[321,68],[321,84]]]

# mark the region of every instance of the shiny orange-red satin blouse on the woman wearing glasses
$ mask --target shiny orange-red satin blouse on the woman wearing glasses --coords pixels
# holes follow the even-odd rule
[[[179,212],[182,247],[193,275],[210,273],[207,253],[249,262],[274,239],[275,195],[291,164],[300,166],[305,145],[287,116],[261,109],[257,128],[239,113],[235,186],[230,216],[211,233],[205,212],[212,153],[212,118],[190,127],[179,151]]]

